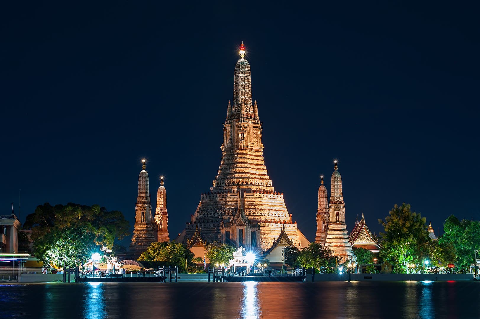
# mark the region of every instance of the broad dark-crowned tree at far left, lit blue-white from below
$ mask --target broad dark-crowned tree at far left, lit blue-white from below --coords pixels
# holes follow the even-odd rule
[[[115,254],[114,242],[129,235],[129,224],[119,211],[73,203],[37,206],[24,228],[32,229],[32,253],[38,260],[70,266],[87,261],[99,247],[106,248],[106,255]]]

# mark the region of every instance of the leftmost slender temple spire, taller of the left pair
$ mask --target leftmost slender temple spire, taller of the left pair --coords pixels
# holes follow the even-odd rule
[[[133,224],[132,243],[130,244],[129,258],[137,260],[147,250],[151,243],[156,241],[154,236],[154,220],[150,203],[150,188],[148,173],[143,160],[142,171],[138,176],[138,197],[135,205],[135,224]]]

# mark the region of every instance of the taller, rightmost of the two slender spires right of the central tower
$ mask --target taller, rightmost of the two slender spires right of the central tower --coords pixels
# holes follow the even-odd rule
[[[340,263],[347,260],[357,260],[350,244],[347,224],[345,223],[345,202],[342,193],[342,177],[338,172],[338,166],[335,161],[335,171],[332,174],[331,194],[330,194],[330,216],[328,222],[327,236],[325,238],[325,247],[332,250],[332,254],[338,258]]]

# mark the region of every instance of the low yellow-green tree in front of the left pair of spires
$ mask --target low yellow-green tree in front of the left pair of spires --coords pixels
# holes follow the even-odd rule
[[[170,265],[176,265],[179,272],[185,271],[185,257],[187,257],[187,268],[192,266],[194,254],[186,245],[174,241],[153,242],[148,246],[138,260],[165,261]]]

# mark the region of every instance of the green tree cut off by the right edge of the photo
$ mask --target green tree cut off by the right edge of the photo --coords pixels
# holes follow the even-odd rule
[[[473,263],[474,251],[480,250],[480,221],[459,221],[451,215],[445,220],[444,232],[438,240],[439,246],[452,254],[452,249],[448,249],[448,245],[451,245],[455,253],[455,265],[459,268],[469,267]]]

